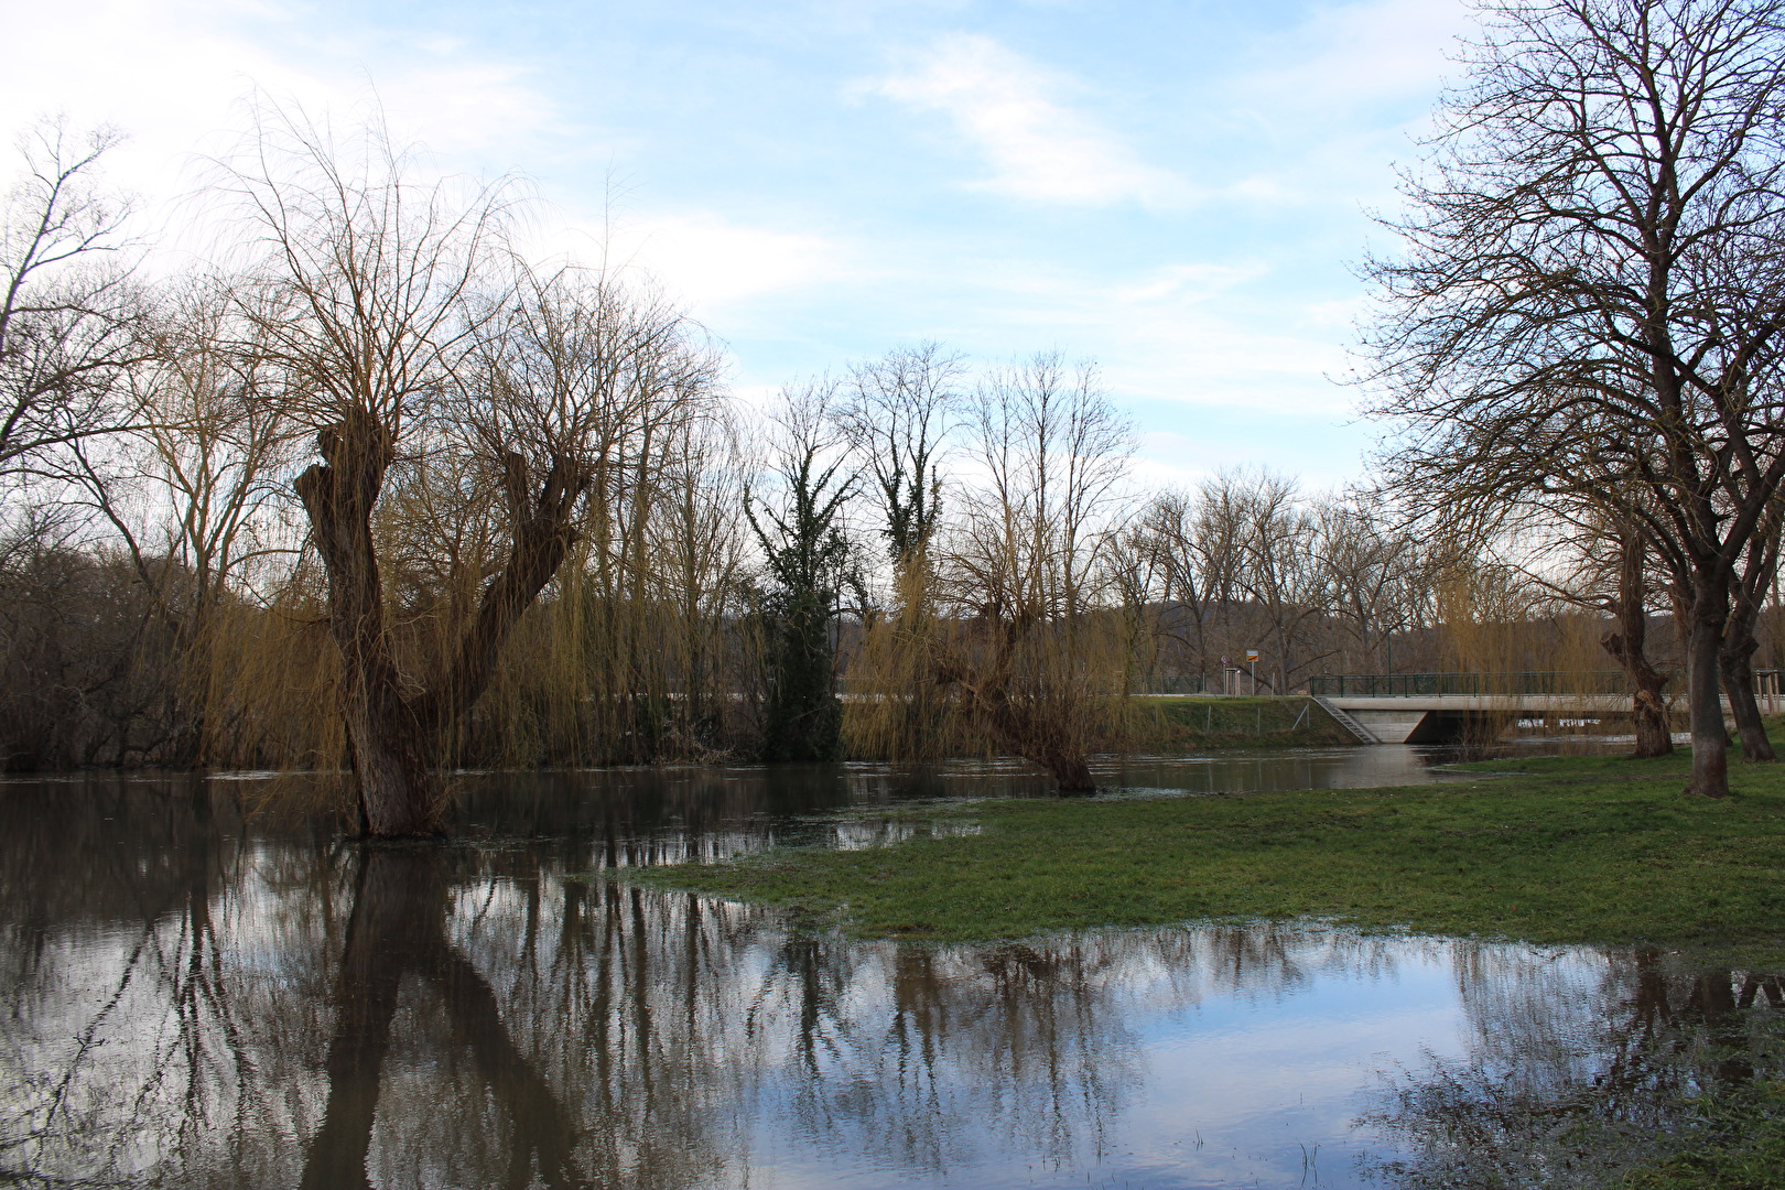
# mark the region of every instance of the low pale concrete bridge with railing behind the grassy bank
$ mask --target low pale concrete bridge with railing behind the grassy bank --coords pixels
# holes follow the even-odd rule
[[[1755,671],[1755,687],[1762,712],[1785,710],[1780,671]],[[1439,744],[1498,735],[1521,719],[1567,726],[1630,714],[1621,673],[1321,674],[1308,696],[1366,744]],[[1685,710],[1678,698],[1669,705]]]

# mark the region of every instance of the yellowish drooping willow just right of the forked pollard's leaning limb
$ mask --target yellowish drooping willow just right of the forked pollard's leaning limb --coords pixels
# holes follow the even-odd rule
[[[723,682],[714,633],[734,598],[741,512],[725,487],[730,426],[718,360],[648,291],[591,296],[627,316],[584,312],[585,325],[610,335],[587,366],[605,360],[627,375],[585,378],[598,416],[578,539],[550,605],[523,624],[494,701],[468,731],[478,755],[509,764],[687,756],[712,742],[710,724],[725,708],[714,690]],[[564,371],[566,351],[555,351],[543,369]],[[509,368],[500,355],[491,364],[496,376]],[[477,553],[486,558],[478,566],[494,560],[489,544]],[[452,592],[444,603],[469,605],[464,576],[443,576],[443,585]],[[464,614],[443,617],[448,635]]]

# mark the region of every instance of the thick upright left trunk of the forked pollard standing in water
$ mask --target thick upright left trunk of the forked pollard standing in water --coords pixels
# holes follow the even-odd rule
[[[427,724],[407,707],[384,617],[371,507],[391,464],[391,439],[355,410],[316,435],[323,462],[295,487],[328,576],[328,635],[341,649],[341,717],[366,833],[432,837],[439,785],[427,762]]]

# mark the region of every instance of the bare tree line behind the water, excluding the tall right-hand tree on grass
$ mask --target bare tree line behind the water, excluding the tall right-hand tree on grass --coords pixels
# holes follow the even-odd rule
[[[1089,787],[1130,690],[1248,644],[1289,690],[1430,607],[1366,501],[1141,491],[1091,364],[923,343],[748,407],[648,278],[527,259],[511,191],[377,127],[264,112],[220,262],[159,273],[107,148],[45,125],[7,209],[9,767],[345,769],[375,833],[434,830],[452,765]]]

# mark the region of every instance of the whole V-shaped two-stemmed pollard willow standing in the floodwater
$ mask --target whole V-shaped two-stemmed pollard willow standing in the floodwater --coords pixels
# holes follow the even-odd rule
[[[578,535],[612,403],[657,382],[684,325],[607,278],[523,268],[505,189],[419,184],[378,128],[341,146],[273,112],[232,162],[259,248],[243,309],[318,462],[295,491],[327,574],[362,828],[441,830],[443,735]],[[434,657],[403,664],[375,516],[393,471],[494,492],[502,548]]]

